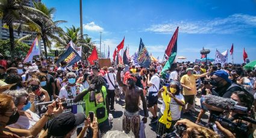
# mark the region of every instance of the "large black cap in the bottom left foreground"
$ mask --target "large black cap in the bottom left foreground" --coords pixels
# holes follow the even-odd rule
[[[61,113],[50,122],[48,127],[48,135],[54,137],[65,136],[67,133],[73,130],[73,128],[82,124],[85,119],[86,115],[84,115],[84,113]]]

